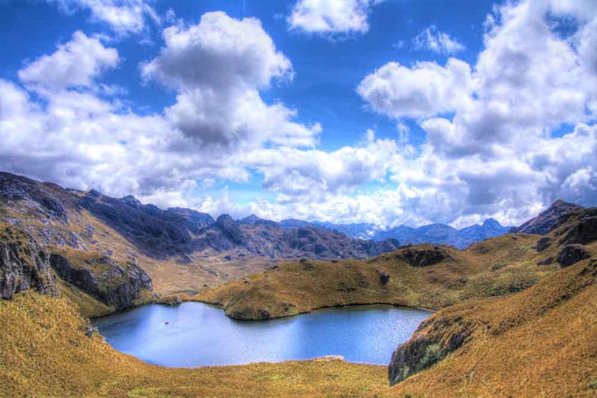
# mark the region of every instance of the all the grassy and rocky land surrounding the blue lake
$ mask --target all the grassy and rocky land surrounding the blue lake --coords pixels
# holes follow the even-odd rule
[[[346,235],[330,240],[336,235],[315,230],[315,238],[307,239],[312,245],[292,243],[290,257],[272,258],[271,251],[248,242],[264,231],[259,225],[264,222],[255,218],[219,217],[199,227],[192,225],[196,215],[178,209],[176,217],[188,218],[177,218],[173,226],[184,229],[175,233],[158,223],[146,236],[147,222],[153,221],[145,218],[146,211],[175,216],[144,209],[133,213],[141,222],[119,215],[121,206],[130,206],[121,202],[118,210],[102,207],[99,213],[79,202],[86,193],[12,175],[4,175],[0,192],[0,322],[6,325],[0,337],[0,385],[8,396],[38,395],[40,388],[47,396],[129,397],[225,397],[235,396],[238,388],[242,396],[256,397],[589,397],[595,392],[597,208],[555,203],[530,223],[547,225],[545,235],[507,233],[464,250],[430,243],[375,246]],[[112,202],[101,199],[101,206],[109,206],[104,200]],[[239,239],[247,240],[235,244]],[[325,244],[323,251],[317,249]],[[334,245],[363,257],[319,258],[338,250]],[[164,249],[163,256],[156,247]],[[224,258],[241,254],[244,265]],[[337,357],[164,368],[115,350],[89,320],[128,307],[180,301],[217,304],[221,309],[211,310],[223,310],[226,322],[288,317],[294,322],[307,316],[298,314],[318,308],[362,304],[436,312],[410,339],[399,347],[392,344],[387,368]],[[205,305],[183,306],[193,304]],[[156,319],[151,330],[195,327],[181,323],[183,329],[176,329],[176,317],[170,318]],[[230,358],[227,363],[244,362]],[[533,366],[525,365],[528,360]]]

